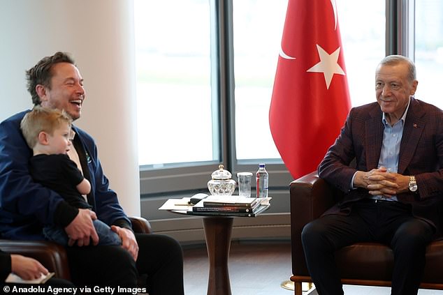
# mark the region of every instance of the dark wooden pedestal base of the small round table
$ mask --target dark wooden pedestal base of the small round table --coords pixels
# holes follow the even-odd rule
[[[231,295],[228,258],[233,217],[203,218],[209,257],[208,295]]]

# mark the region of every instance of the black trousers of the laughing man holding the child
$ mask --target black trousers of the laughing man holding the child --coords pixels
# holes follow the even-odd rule
[[[183,255],[180,244],[168,236],[136,234],[138,259],[115,245],[67,247],[74,284],[137,287],[138,279],[150,295],[184,294]]]

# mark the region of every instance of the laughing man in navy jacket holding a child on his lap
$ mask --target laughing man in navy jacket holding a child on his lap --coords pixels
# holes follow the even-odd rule
[[[27,71],[28,90],[34,105],[64,109],[80,118],[85,89],[80,71],[68,54],[57,52]],[[44,225],[62,220],[66,234],[75,241],[67,247],[71,276],[76,285],[136,287],[139,275],[147,275],[147,292],[183,294],[183,261],[180,244],[168,236],[134,234],[131,222],[109,188],[94,139],[73,126],[72,153],[91,183],[87,201],[92,210],[76,215],[56,192],[35,183],[29,175],[32,151],[20,132],[20,121],[29,111],[0,123],[0,233],[6,239],[43,239]],[[70,151],[70,152],[71,152]],[[99,218],[122,239],[122,246],[96,245],[99,237],[92,223]],[[173,282],[173,283],[171,283]]]

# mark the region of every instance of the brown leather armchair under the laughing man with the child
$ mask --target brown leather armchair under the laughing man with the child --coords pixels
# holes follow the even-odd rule
[[[130,217],[132,229],[136,233],[149,234],[150,223],[141,217]],[[33,257],[43,264],[48,271],[55,272],[57,278],[71,280],[68,257],[63,246],[50,241],[13,241],[0,239],[0,249],[13,254]]]

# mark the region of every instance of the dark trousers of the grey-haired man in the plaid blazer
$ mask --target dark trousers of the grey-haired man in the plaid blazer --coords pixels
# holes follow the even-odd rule
[[[324,215],[302,232],[307,268],[320,295],[344,294],[334,252],[357,242],[389,245],[394,253],[391,294],[417,294],[425,266],[426,245],[434,229],[414,218],[400,202],[363,199],[349,215]],[[365,267],[362,265],[362,267]]]

